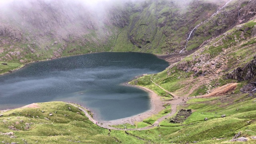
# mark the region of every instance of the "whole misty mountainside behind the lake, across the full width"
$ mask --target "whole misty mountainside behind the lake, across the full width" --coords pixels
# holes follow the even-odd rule
[[[186,50],[193,50],[255,16],[249,0],[232,0],[214,14],[227,2],[8,2],[0,9],[0,61],[20,65],[102,51],[178,53],[190,34]]]

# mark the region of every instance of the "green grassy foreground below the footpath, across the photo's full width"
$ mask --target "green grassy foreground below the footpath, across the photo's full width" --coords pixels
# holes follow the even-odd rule
[[[128,131],[128,134],[124,131],[109,132],[100,128],[90,122],[84,114],[77,114],[76,112],[80,112],[77,108],[64,102],[40,103],[40,108],[19,108],[4,112],[4,116],[0,118],[0,132],[14,132],[16,138],[0,135],[0,140],[5,143],[219,143],[232,139],[238,132],[242,132],[242,136],[246,137],[256,135],[254,100],[256,99],[246,94],[190,100],[188,105],[180,107],[194,111],[185,122],[172,124],[165,120],[160,123],[160,127]],[[53,116],[49,116],[50,112]],[[226,117],[221,118],[222,114],[226,114]],[[209,120],[205,121],[206,117]],[[10,130],[10,126],[19,130]],[[28,130],[26,126],[29,126]],[[250,140],[248,143],[255,142],[256,140]]]

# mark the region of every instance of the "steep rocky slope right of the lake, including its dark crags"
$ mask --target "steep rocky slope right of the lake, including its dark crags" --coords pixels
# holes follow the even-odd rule
[[[254,82],[255,25],[256,21],[252,20],[235,26],[151,78],[180,96],[206,94],[212,88],[230,82]]]

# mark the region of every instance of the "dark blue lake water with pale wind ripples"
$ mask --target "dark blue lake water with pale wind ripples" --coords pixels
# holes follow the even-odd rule
[[[36,62],[0,76],[0,109],[34,102],[76,102],[96,112],[98,120],[116,120],[150,109],[148,93],[123,86],[168,63],[153,54],[103,52]]]

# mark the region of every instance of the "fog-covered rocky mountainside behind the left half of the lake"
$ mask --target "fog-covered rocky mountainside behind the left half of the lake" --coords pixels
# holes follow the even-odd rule
[[[28,0],[2,5],[0,59],[28,63],[110,50],[127,18],[119,16],[122,4],[112,9],[106,4],[97,5],[99,10],[82,1]]]

